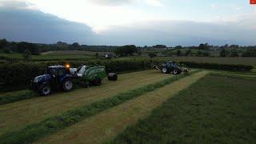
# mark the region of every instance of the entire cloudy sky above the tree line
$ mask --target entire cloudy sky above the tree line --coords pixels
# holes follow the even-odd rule
[[[256,45],[249,0],[0,0],[0,24],[14,41]]]

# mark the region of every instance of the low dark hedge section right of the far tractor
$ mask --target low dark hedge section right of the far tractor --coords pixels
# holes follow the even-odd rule
[[[247,65],[230,65],[230,64],[218,64],[218,63],[198,63],[198,62],[179,62],[180,64],[202,69],[213,70],[237,70],[237,71],[250,71],[254,66]]]

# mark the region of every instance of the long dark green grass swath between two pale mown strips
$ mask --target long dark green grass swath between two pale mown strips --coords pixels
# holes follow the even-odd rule
[[[198,72],[198,70],[191,72],[191,74],[196,72]],[[122,102],[126,102],[150,91],[157,90],[158,88],[166,86],[167,84],[170,84],[171,82],[174,82],[180,78],[185,78],[186,76],[188,76],[188,74],[181,74],[166,78],[161,82],[142,86],[134,90],[129,90],[126,93],[117,94],[112,98],[106,98],[102,101],[94,102],[90,105],[81,106],[76,109],[69,110],[66,113],[46,118],[42,122],[31,124],[22,130],[2,134],[2,136],[0,136],[0,143],[34,142],[38,138],[52,134],[57,130],[61,130],[67,126],[79,122],[82,119],[89,118],[94,114],[98,114],[102,110],[107,110],[111,107],[118,106]]]

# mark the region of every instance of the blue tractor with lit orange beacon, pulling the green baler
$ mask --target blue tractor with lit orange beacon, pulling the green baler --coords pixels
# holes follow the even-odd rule
[[[70,91],[74,89],[69,66],[48,66],[46,74],[39,75],[32,82],[32,89],[42,96],[49,95],[52,89]]]

